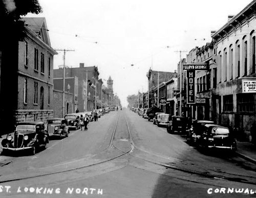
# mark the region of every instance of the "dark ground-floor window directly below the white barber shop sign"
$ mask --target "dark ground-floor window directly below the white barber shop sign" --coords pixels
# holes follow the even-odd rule
[[[254,95],[237,94],[237,108],[238,112],[254,112]]]

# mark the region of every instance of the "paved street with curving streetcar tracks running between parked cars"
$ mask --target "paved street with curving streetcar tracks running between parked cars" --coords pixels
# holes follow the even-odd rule
[[[127,109],[51,140],[35,156],[0,156],[0,165],[1,197],[208,197],[208,189],[212,197],[250,197],[227,188],[256,190],[255,164],[191,147]],[[225,194],[215,193],[221,188]]]

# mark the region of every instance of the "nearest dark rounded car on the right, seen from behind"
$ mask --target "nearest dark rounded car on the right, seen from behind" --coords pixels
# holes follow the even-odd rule
[[[208,148],[237,149],[236,140],[230,135],[229,129],[216,124],[205,124],[196,137],[196,145]]]

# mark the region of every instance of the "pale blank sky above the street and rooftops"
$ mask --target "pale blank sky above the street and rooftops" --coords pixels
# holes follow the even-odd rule
[[[104,84],[114,80],[122,106],[147,91],[146,73],[177,70],[179,53],[211,41],[210,31],[227,23],[251,0],[39,0],[53,49],[69,49],[66,65],[96,65]],[[63,53],[54,56],[54,69]],[[182,58],[186,57],[182,53]]]

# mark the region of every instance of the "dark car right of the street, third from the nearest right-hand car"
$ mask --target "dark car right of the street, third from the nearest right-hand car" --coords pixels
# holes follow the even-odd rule
[[[187,117],[183,116],[172,116],[168,125],[167,125],[167,132],[172,134],[175,131],[180,133],[185,133],[188,129],[188,119]]]

